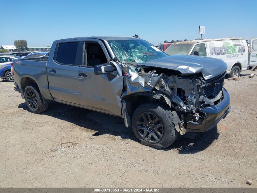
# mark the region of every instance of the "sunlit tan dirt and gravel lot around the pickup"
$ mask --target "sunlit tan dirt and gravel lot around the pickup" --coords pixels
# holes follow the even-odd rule
[[[163,150],[141,145],[119,117],[60,103],[30,113],[2,80],[0,187],[257,187],[257,76],[250,73],[257,75],[225,80],[232,109],[217,127]]]

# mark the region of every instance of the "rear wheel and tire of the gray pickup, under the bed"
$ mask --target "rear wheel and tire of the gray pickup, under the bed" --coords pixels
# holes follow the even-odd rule
[[[47,110],[48,103],[44,103],[41,93],[35,84],[25,88],[24,97],[28,109],[33,113],[42,113]]]

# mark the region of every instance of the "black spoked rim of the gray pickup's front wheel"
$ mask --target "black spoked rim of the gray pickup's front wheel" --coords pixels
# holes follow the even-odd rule
[[[141,138],[148,143],[161,140],[164,130],[161,120],[154,113],[144,112],[137,118],[137,131]]]

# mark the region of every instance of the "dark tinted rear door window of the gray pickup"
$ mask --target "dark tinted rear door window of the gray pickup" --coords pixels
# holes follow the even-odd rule
[[[61,64],[75,65],[77,50],[78,42],[60,43],[55,61]]]

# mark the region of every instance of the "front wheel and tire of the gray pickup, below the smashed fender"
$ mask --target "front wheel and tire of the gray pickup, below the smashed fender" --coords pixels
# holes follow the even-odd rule
[[[132,128],[139,140],[162,146],[172,145],[177,138],[171,110],[161,103],[144,103],[132,116]]]

